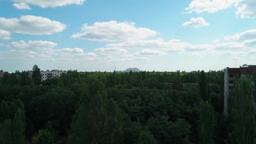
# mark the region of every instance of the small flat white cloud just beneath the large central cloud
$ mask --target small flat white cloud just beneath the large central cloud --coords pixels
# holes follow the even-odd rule
[[[128,51],[124,48],[96,48],[94,51],[99,52],[102,55],[124,54]]]

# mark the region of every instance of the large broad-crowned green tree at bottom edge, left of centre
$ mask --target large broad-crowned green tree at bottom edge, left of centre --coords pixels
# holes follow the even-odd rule
[[[88,96],[77,109],[71,124],[69,144],[120,143],[120,110],[104,92]]]

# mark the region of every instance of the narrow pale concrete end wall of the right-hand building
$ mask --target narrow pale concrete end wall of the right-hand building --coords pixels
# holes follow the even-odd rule
[[[224,71],[224,115],[228,115],[228,98],[229,98],[229,68]]]

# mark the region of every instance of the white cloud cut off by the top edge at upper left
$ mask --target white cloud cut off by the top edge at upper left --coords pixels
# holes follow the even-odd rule
[[[16,3],[38,5],[41,8],[55,8],[64,5],[82,5],[85,0],[12,0]]]

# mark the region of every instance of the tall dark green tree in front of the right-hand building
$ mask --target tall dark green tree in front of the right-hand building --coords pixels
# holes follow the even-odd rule
[[[251,81],[247,77],[235,81],[230,99],[232,131],[229,133],[229,139],[231,143],[255,144],[255,104],[253,102]]]

